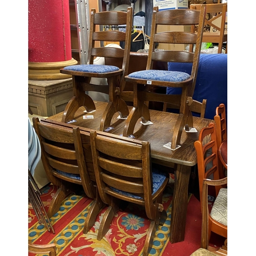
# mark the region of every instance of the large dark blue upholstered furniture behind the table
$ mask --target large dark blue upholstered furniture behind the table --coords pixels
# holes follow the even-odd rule
[[[190,73],[190,63],[168,63],[168,70]],[[166,94],[180,93],[180,88],[168,87]],[[207,99],[205,118],[214,119],[220,103],[226,106],[227,118],[227,54],[201,54],[193,99]],[[177,111],[177,110],[176,110]],[[174,112],[174,111],[172,111]]]

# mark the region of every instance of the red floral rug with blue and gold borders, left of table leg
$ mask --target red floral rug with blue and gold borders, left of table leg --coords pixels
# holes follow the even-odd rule
[[[41,200],[46,211],[56,190],[57,187],[52,184],[41,190]],[[48,231],[43,224],[38,223],[35,212],[29,204],[29,242],[35,244],[55,243],[57,255],[61,256],[142,255],[147,229],[150,225],[144,208],[129,204],[124,211],[119,210],[113,218],[109,231],[101,241],[98,241],[98,229],[106,207],[97,216],[95,225],[91,230],[87,234],[82,232],[91,203],[92,200],[84,194],[71,194],[62,202],[59,211],[50,218],[55,231],[54,234],[52,231]],[[163,205],[167,212],[167,219],[164,225],[159,226],[156,231],[154,246],[150,252],[151,256],[162,255],[166,242],[168,242],[171,203],[172,195],[164,193]]]

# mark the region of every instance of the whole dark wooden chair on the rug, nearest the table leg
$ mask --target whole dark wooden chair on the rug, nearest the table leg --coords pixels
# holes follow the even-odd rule
[[[96,131],[90,135],[97,187],[102,201],[109,205],[97,239],[101,240],[109,230],[120,200],[143,205],[147,218],[151,220],[143,249],[143,256],[148,255],[156,229],[167,217],[162,194],[168,177],[152,173],[149,142],[132,139],[124,142],[100,136]]]

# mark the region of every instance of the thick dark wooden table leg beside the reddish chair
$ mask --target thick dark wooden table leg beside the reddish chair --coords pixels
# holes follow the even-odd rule
[[[175,165],[175,185],[169,237],[171,243],[184,241],[190,172],[191,166]]]

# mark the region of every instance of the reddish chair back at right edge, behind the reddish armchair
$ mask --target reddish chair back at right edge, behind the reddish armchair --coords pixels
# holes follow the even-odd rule
[[[217,145],[227,139],[227,120],[225,104],[221,103],[216,108],[216,115],[214,117],[216,123]]]

